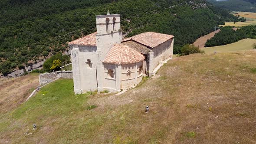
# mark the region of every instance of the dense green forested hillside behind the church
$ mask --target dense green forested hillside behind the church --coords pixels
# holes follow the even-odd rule
[[[39,62],[96,31],[95,15],[121,14],[127,37],[154,31],[175,36],[174,53],[237,17],[205,0],[1,0],[0,72]]]

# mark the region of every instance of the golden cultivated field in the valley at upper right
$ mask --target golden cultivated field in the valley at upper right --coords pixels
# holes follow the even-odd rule
[[[246,18],[246,22],[226,22],[225,25],[221,26],[236,26],[236,27],[241,27],[241,26],[250,26],[250,25],[256,25],[256,13],[249,13],[249,12],[236,12],[239,13],[240,17]],[[235,16],[238,16],[235,15]]]

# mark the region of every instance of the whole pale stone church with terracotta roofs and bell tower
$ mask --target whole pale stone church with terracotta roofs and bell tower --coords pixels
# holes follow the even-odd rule
[[[141,33],[122,40],[120,15],[96,16],[97,32],[69,43],[74,91],[120,92],[173,55],[174,36]]]

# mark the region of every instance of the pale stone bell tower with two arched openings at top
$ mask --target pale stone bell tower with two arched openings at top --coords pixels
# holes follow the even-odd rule
[[[114,44],[121,44],[122,33],[120,26],[120,14],[110,14],[96,16],[96,46],[97,46],[97,84],[98,92],[103,91],[105,69],[103,60]]]

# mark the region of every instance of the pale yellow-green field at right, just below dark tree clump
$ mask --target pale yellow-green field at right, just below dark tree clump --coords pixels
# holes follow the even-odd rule
[[[246,51],[253,49],[253,43],[256,43],[256,39],[242,39],[236,43],[230,43],[224,46],[207,47],[202,50],[204,50],[205,53]]]

